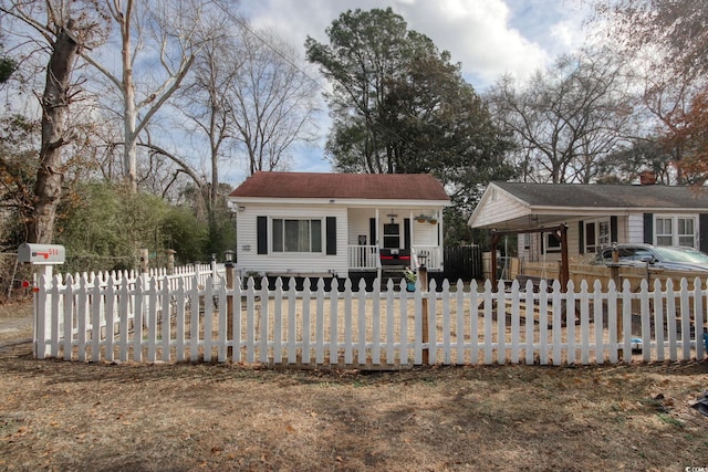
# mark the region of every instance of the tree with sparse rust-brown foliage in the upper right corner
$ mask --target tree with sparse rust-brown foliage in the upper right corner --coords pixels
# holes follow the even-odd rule
[[[691,103],[708,83],[708,3],[704,0],[593,0],[597,30],[636,71],[646,122],[656,147],[673,160],[675,181],[687,183],[683,134]]]

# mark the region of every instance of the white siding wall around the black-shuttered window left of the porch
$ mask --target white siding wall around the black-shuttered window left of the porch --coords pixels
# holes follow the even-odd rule
[[[258,253],[257,217],[268,217],[268,254]],[[326,254],[326,217],[336,218],[336,255]],[[273,253],[271,248],[273,218],[322,219],[322,252],[319,253]],[[346,208],[337,206],[296,204],[249,204],[237,214],[237,270],[241,273],[308,275],[333,271],[337,275],[347,274]]]

